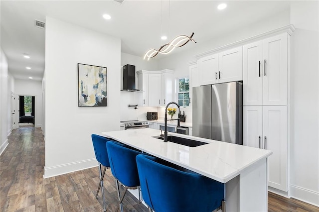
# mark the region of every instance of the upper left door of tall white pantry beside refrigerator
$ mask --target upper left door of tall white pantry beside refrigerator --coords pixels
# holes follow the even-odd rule
[[[243,105],[263,105],[263,41],[243,47]]]

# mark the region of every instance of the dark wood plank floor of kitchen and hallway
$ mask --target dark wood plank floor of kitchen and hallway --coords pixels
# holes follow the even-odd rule
[[[8,137],[9,145],[0,156],[1,212],[98,212],[102,210],[98,168],[85,169],[57,177],[43,179],[44,140],[40,128],[21,127]],[[107,170],[104,178],[109,212],[117,206],[115,180]],[[147,212],[127,194],[123,201],[126,212]],[[319,208],[273,193],[268,195],[269,212],[319,212]]]

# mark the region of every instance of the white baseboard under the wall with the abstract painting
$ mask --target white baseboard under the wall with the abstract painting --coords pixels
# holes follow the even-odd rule
[[[96,159],[83,160],[74,163],[63,164],[59,166],[44,167],[43,178],[54,177],[58,175],[67,174],[70,172],[76,172],[83,169],[88,169],[98,166]]]

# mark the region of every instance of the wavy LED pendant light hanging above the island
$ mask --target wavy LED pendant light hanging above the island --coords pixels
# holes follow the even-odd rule
[[[161,7],[161,22],[162,22],[162,16],[163,16],[162,10],[163,10],[163,8]],[[170,13],[170,2],[169,2],[169,13]],[[192,38],[193,35],[194,35],[194,32],[189,37],[187,35],[179,35],[179,36],[175,37],[169,43],[166,43],[166,44],[160,46],[159,50],[156,50],[156,49],[148,50],[144,55],[144,60],[146,58],[148,58],[148,60],[150,60],[150,58],[155,57],[159,53],[160,54],[168,54],[171,51],[173,51],[175,48],[184,46],[186,43],[188,43],[191,40],[194,41],[194,43],[196,43],[196,41]]]

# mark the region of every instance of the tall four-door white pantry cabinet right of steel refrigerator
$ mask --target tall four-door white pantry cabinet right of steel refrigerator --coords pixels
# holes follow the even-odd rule
[[[273,152],[268,185],[288,192],[290,35],[243,46],[243,145]]]

